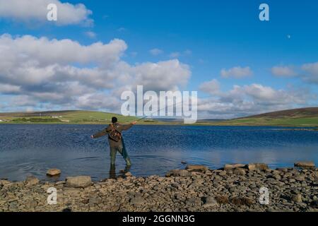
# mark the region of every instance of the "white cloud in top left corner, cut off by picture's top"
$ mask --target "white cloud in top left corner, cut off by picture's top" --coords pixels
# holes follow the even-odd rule
[[[57,5],[56,25],[93,25],[92,11],[83,4],[61,3],[59,0],[0,0],[0,18],[30,23],[47,23],[47,5]]]

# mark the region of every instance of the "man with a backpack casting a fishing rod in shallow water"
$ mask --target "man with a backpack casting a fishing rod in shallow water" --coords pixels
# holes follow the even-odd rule
[[[105,136],[108,134],[108,141],[110,143],[110,167],[114,169],[114,163],[116,160],[117,151],[124,157],[126,161],[126,166],[131,166],[131,161],[128,153],[126,152],[126,148],[124,146],[124,139],[122,138],[122,131],[130,129],[131,126],[135,125],[136,121],[131,122],[131,124],[122,125],[117,122],[116,117],[112,117],[112,124],[107,126],[106,129],[95,133],[90,136],[90,138],[99,138],[101,136]]]

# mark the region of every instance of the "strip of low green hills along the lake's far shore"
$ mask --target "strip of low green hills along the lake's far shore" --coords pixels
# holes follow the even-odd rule
[[[0,113],[0,124],[110,124],[112,117],[123,123],[136,121],[138,117],[93,111],[13,112]],[[141,125],[184,125],[182,121],[142,119]],[[187,124],[188,125],[188,124]],[[290,109],[280,112],[223,121],[198,121],[195,126],[295,126],[318,127],[318,107]]]

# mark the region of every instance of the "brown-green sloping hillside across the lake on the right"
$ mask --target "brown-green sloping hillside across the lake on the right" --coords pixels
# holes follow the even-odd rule
[[[222,121],[226,125],[318,126],[318,107],[288,109]]]

